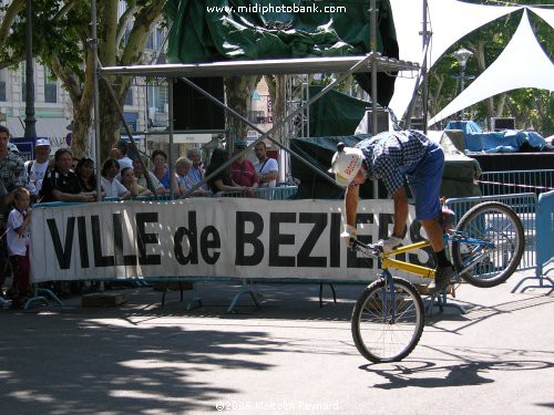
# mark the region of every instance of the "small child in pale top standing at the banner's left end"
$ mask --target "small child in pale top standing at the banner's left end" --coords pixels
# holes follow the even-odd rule
[[[29,204],[31,195],[24,187],[14,190],[16,207],[8,217],[8,253],[13,270],[14,297],[11,303],[12,309],[24,305],[30,294],[29,282],[29,222],[31,221],[31,210]]]

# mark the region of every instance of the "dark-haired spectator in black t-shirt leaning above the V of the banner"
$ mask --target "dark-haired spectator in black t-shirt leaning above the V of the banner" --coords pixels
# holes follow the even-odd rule
[[[54,154],[54,168],[47,173],[40,196],[42,201],[94,201],[95,194],[82,193],[79,177],[71,170],[73,156],[69,148]]]

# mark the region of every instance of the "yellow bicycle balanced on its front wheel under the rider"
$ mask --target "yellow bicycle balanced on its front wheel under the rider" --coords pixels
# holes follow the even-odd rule
[[[494,287],[510,278],[521,261],[523,225],[507,205],[482,203],[468,210],[455,229],[445,229],[444,241],[456,271],[455,281]],[[377,259],[381,270],[356,302],[351,319],[356,347],[369,361],[400,361],[418,344],[425,322],[422,298],[412,283],[393,277],[389,269],[434,278],[432,268],[393,258],[429,246],[424,240],[386,253],[378,245],[352,241],[352,249]]]

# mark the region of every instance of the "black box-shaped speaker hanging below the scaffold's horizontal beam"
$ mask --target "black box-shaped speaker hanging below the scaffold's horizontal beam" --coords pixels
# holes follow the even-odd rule
[[[224,102],[223,77],[188,77],[204,91]],[[225,129],[225,111],[208,97],[177,80],[173,84],[175,129]]]

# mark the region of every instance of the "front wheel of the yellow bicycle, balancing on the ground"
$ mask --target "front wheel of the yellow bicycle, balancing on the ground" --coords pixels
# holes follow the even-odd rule
[[[356,347],[373,362],[398,362],[418,344],[425,314],[416,288],[400,278],[381,278],[362,292],[352,312]]]

